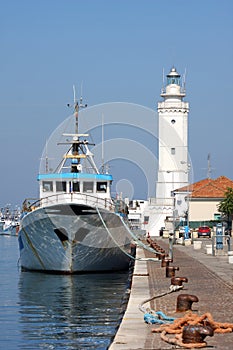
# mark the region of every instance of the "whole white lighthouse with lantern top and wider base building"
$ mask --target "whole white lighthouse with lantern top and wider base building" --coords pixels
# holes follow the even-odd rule
[[[187,211],[185,196],[174,197],[172,191],[189,184],[188,113],[184,80],[173,67],[167,75],[158,102],[158,176],[156,196],[149,198],[144,216],[148,218],[146,229],[152,236],[159,235],[165,220],[174,224],[175,217]],[[187,195],[187,193],[186,193]],[[179,204],[177,206],[177,203]],[[175,210],[176,208],[176,210]],[[177,212],[177,213],[175,213]],[[166,221],[167,221],[166,220]],[[173,226],[172,226],[173,227]]]

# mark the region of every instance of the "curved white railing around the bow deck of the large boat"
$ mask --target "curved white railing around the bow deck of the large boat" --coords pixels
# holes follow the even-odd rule
[[[56,193],[51,196],[47,196],[41,199],[37,199],[33,203],[28,202],[28,205],[25,205],[27,200],[24,201],[24,211],[33,211],[35,209],[45,207],[48,205],[54,204],[63,204],[63,203],[78,203],[85,204],[90,206],[97,206],[99,208],[104,208],[110,211],[115,211],[117,205],[111,198],[101,198],[98,196],[93,196],[90,194],[83,193]]]

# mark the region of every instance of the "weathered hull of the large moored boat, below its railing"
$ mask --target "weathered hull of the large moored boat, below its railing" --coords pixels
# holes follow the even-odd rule
[[[21,221],[21,267],[51,273],[126,270],[130,234],[103,208],[63,203],[29,212]]]

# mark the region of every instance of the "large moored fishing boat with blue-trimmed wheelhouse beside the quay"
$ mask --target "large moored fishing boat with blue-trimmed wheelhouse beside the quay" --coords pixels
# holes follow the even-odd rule
[[[132,257],[127,206],[112,199],[112,175],[98,170],[89,134],[79,133],[82,103],[74,102],[74,133],[63,134],[66,152],[54,172],[38,175],[39,199],[23,204],[21,268],[64,274],[126,270]]]

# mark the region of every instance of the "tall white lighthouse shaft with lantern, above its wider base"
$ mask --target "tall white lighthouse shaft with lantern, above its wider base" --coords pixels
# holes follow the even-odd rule
[[[185,79],[173,67],[158,102],[158,177],[156,199],[166,205],[171,192],[188,185],[188,113]]]

